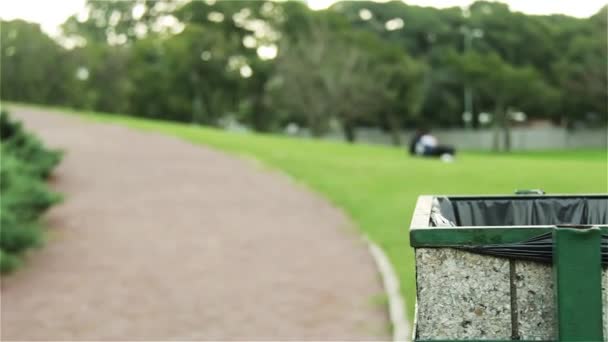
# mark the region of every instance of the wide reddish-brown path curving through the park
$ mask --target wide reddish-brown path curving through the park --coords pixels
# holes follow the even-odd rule
[[[365,244],[285,177],[170,137],[14,109],[67,151],[2,340],[388,339]]]

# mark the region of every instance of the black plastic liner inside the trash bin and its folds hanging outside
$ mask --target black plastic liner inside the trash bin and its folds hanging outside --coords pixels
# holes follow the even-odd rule
[[[431,226],[608,225],[608,196],[436,197]],[[601,241],[602,264],[608,266],[608,236]],[[552,234],[519,243],[460,247],[474,253],[551,262]]]

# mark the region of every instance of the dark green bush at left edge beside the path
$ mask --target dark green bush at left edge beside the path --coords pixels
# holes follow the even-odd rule
[[[61,153],[44,147],[6,112],[0,113],[0,272],[21,264],[24,252],[39,246],[40,216],[61,197],[49,190],[45,178]]]

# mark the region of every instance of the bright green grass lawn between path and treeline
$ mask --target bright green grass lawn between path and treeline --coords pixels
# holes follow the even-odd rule
[[[118,115],[94,120],[180,137],[194,144],[260,160],[342,208],[392,260],[413,317],[413,250],[408,226],[421,194],[512,194],[608,192],[606,151],[461,153],[455,163],[409,157],[403,148],[347,145],[220,130]],[[235,194],[235,196],[238,194]],[[314,246],[310,246],[314,253]]]

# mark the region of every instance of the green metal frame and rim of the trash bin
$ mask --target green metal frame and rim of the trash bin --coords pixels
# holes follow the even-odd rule
[[[557,340],[603,341],[602,235],[608,224],[596,226],[492,226],[431,227],[433,198],[522,199],[515,196],[420,196],[410,226],[414,248],[471,247],[526,241],[541,234],[553,235],[553,270],[556,284]],[[525,195],[525,198],[606,198],[592,195]],[[581,267],[585,265],[585,267]],[[608,310],[608,308],[605,308]],[[606,322],[608,324],[608,322]],[[422,342],[422,340],[416,340]],[[433,340],[438,341],[438,340]]]

